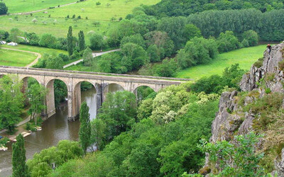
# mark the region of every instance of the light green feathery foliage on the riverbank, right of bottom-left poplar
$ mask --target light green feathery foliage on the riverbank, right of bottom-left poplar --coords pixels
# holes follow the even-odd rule
[[[82,156],[83,150],[78,142],[62,140],[56,147],[43,149],[40,153],[35,153],[33,159],[28,159],[28,172],[31,176],[47,176],[53,171],[53,166],[57,168],[70,159]]]

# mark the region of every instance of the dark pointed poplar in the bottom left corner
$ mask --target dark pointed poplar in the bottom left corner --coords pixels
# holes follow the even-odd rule
[[[16,142],[12,144],[12,165],[13,177],[29,176],[26,166],[26,149],[24,147],[24,139],[21,133],[16,137]]]

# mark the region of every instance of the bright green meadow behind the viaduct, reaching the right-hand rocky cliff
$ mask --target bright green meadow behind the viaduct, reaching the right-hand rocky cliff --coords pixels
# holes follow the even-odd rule
[[[197,67],[190,67],[175,74],[175,77],[200,79],[203,76],[211,76],[213,74],[222,74],[226,67],[231,64],[239,63],[241,69],[249,70],[251,65],[258,58],[263,57],[266,45],[258,45],[256,47],[248,47],[240,50],[222,53],[209,64],[202,64]]]

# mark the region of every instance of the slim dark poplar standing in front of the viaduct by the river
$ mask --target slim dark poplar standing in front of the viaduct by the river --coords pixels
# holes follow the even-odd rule
[[[80,130],[79,130],[80,144],[84,150],[84,154],[87,152],[87,147],[90,144],[91,138],[91,124],[89,122],[89,107],[84,101],[80,108]]]

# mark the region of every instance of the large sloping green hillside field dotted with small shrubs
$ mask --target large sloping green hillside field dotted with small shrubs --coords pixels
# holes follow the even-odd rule
[[[50,2],[51,1],[54,2],[55,0],[50,0]],[[160,0],[132,0],[127,4],[125,0],[104,0],[100,1],[102,3],[100,6],[96,6],[97,1],[99,0],[87,0],[77,4],[72,4],[70,6],[48,9],[48,13],[38,12],[33,13],[33,16],[18,15],[18,18],[15,18],[16,16],[0,16],[0,30],[11,30],[11,28],[18,28],[26,32],[34,32],[37,34],[50,33],[57,37],[66,37],[68,27],[72,25],[74,30],[73,34],[75,36],[77,36],[77,33],[79,33],[80,30],[84,30],[85,34],[92,30],[104,33],[112,25],[116,25],[120,17],[125,18],[127,14],[131,13],[134,7],[140,6],[141,4],[157,4]],[[8,7],[9,4],[11,4],[11,2],[7,3]],[[107,4],[111,5],[107,7]],[[26,8],[29,9],[31,7],[21,6],[21,8],[23,11],[26,11]],[[84,11],[82,11],[82,8],[84,8]],[[9,9],[13,9],[13,6],[11,6]],[[15,9],[17,8],[15,7]],[[74,21],[74,19],[72,19],[74,14],[76,15],[76,18],[77,16],[81,16],[82,19]],[[65,19],[67,15],[70,16],[69,19]],[[48,16],[50,16],[50,18]],[[86,17],[88,20],[85,19]],[[116,21],[111,22],[112,17],[115,17]],[[36,18],[38,22],[33,23],[33,18]],[[94,21],[99,21],[100,25],[94,26]],[[45,24],[43,22],[45,22]]]

